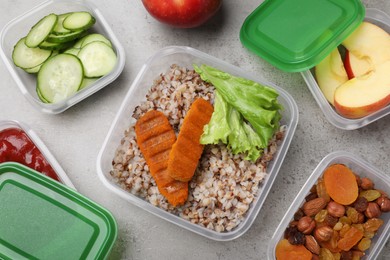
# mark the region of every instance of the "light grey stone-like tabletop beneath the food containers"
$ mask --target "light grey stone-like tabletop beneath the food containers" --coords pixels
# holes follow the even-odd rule
[[[40,2],[1,0],[0,29]],[[112,259],[266,259],[279,221],[325,155],[350,151],[390,175],[388,116],[359,130],[339,130],[325,119],[300,74],[282,72],[242,46],[240,27],[261,2],[225,0],[207,26],[182,30],[155,21],[140,0],[95,0],[126,50],[126,66],[114,83],[59,115],[32,107],[0,62],[0,119],[19,120],[33,128],[78,191],[114,214],[119,233]],[[389,0],[363,2],[390,13]],[[124,95],[146,59],[168,45],[191,46],[274,82],[299,107],[294,139],[263,209],[250,230],[231,242],[215,242],[161,220],[112,194],[97,177],[97,154]],[[389,242],[380,259],[390,259]]]

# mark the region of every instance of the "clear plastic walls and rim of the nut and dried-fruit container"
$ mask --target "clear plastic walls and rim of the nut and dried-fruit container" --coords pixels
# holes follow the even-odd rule
[[[287,213],[284,215],[271,239],[271,242],[269,243],[267,252],[268,259],[276,258],[276,245],[282,239],[284,231],[294,217],[294,213],[303,205],[305,196],[310,193],[310,189],[317,183],[318,178],[322,176],[324,170],[335,163],[345,164],[352,169],[355,174],[361,177],[370,178],[374,182],[376,189],[383,190],[387,194],[390,193],[390,177],[388,175],[385,175],[374,166],[354,154],[344,151],[330,153],[315,168],[296,196],[295,200],[292,202],[290,208],[287,210]],[[383,219],[384,224],[372,239],[371,247],[369,250],[365,251],[366,255],[362,258],[362,260],[377,259],[380,251],[390,237],[390,213],[384,213],[380,218]]]

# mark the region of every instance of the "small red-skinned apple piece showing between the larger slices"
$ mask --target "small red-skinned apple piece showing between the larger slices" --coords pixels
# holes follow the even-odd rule
[[[358,58],[353,52],[345,52],[344,67],[349,79],[360,77],[373,70],[374,65],[367,57]]]

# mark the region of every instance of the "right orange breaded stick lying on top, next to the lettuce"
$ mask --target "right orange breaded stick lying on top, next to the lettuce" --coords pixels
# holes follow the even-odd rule
[[[203,152],[200,137],[213,111],[213,106],[203,98],[192,103],[169,154],[168,172],[173,179],[189,181],[194,175]]]

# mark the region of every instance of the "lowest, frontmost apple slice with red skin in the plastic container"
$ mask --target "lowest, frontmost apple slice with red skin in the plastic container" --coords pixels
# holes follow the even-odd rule
[[[390,104],[389,71],[390,60],[338,87],[334,96],[336,111],[347,118],[360,118]]]

